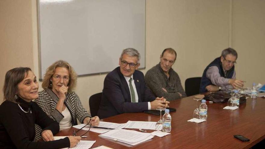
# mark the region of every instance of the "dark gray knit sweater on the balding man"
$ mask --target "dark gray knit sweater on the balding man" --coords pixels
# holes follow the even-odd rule
[[[186,97],[179,75],[172,68],[169,70],[169,75],[170,77],[167,78],[159,63],[146,72],[145,83],[157,97],[163,96],[167,101]],[[162,88],[165,88],[167,92]],[[182,97],[179,96],[178,92]]]

